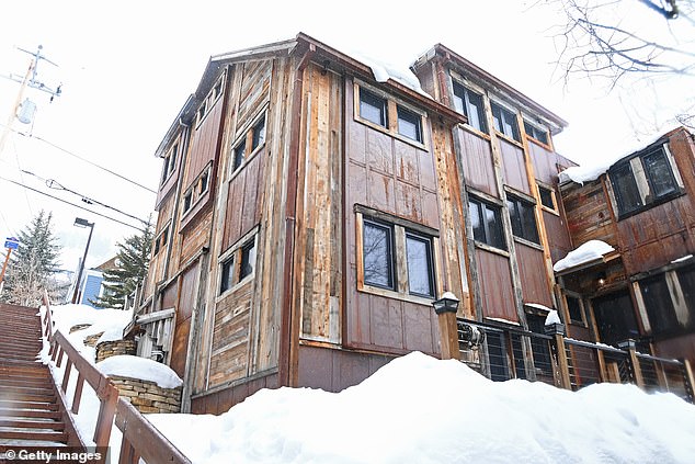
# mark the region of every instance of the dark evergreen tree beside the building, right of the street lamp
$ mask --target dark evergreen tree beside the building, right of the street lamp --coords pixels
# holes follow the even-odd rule
[[[148,224],[139,235],[117,244],[116,268],[104,271],[104,292],[95,301],[101,308],[124,309],[125,298],[145,280],[152,248],[152,227]]]

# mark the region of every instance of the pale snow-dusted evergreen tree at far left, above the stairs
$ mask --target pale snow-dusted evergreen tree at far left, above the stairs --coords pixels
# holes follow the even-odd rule
[[[55,273],[58,271],[61,247],[53,235],[52,219],[53,214],[42,210],[20,231],[20,247],[10,258],[5,287],[0,296],[3,302],[37,306],[44,288],[49,296],[60,290]]]

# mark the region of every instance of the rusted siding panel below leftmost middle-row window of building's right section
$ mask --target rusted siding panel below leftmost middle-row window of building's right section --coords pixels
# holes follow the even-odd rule
[[[478,248],[476,259],[483,317],[519,320],[509,258]]]

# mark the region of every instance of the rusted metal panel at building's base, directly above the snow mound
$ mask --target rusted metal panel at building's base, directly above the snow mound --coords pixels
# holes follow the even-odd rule
[[[379,354],[301,346],[297,386],[341,392],[357,385],[388,364],[391,359]]]

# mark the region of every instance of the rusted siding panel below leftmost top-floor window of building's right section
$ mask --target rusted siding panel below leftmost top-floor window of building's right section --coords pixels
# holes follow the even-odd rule
[[[462,142],[459,156],[464,165],[466,184],[492,196],[499,196],[490,142],[462,127],[457,131]]]

